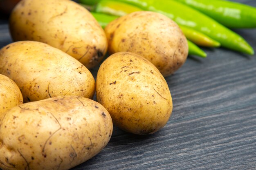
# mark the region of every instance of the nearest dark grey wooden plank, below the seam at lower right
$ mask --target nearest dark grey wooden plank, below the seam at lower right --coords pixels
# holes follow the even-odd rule
[[[250,106],[170,121],[164,129],[148,136],[116,130],[107,148],[72,170],[254,169],[255,109]]]

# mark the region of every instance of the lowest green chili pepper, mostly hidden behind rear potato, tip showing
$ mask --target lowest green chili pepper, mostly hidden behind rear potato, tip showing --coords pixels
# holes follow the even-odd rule
[[[99,22],[99,24],[102,26],[102,28],[105,28],[109,22],[118,18],[118,16],[106,15],[103,13],[95,13],[95,12],[91,12],[91,13],[94,16],[94,18]],[[198,55],[200,57],[207,56],[207,54],[204,53],[204,51],[202,51],[198,46],[193,44],[193,42],[190,42],[188,40],[188,44],[189,44],[189,55]]]

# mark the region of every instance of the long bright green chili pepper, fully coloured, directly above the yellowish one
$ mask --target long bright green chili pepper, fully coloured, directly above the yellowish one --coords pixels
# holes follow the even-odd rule
[[[193,28],[235,51],[254,54],[252,47],[237,33],[227,29],[207,15],[174,0],[118,0],[141,9],[162,13],[177,24]]]

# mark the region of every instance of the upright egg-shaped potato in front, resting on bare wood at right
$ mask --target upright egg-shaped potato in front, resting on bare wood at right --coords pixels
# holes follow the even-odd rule
[[[172,113],[164,77],[152,63],[134,53],[115,53],[101,64],[96,94],[113,123],[127,132],[154,133]]]

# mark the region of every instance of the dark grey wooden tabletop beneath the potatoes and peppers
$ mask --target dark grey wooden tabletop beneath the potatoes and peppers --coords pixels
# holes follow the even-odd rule
[[[236,0],[237,2],[239,0]],[[255,0],[240,0],[256,7]],[[235,30],[256,51],[256,29]],[[0,48],[11,43],[0,20]],[[256,55],[204,49],[166,77],[173,114],[153,135],[114,128],[98,155],[72,170],[256,169]],[[96,77],[97,68],[91,70]]]

